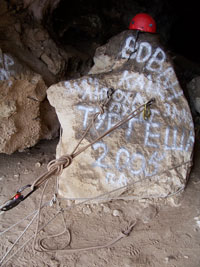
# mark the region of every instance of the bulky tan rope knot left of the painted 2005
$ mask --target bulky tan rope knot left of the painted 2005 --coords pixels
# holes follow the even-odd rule
[[[60,175],[63,169],[69,167],[72,163],[73,157],[71,155],[63,155],[58,159],[50,161],[47,165],[48,171],[56,170],[55,174]]]

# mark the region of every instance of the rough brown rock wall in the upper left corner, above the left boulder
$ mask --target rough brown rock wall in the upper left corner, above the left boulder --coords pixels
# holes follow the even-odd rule
[[[40,74],[48,86],[66,77],[78,78],[92,66],[90,55],[71,45],[61,45],[59,38],[54,36],[53,39],[54,34],[48,31],[48,28],[51,29],[51,13],[58,2],[59,0],[0,1],[2,51],[12,54]],[[93,54],[94,51],[95,49]]]

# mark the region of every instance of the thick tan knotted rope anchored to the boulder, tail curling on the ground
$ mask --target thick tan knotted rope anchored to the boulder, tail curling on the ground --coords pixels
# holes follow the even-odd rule
[[[142,111],[146,112],[147,110],[149,111],[149,108],[151,106],[152,103],[155,102],[155,99],[151,99],[150,101],[148,101],[147,103],[139,106],[137,109],[135,109],[133,112],[131,112],[129,115],[125,116],[121,121],[119,121],[118,123],[116,123],[113,127],[111,127],[109,130],[107,130],[105,133],[103,133],[102,135],[98,136],[94,141],[90,142],[89,144],[85,145],[84,147],[79,148],[82,140],[85,138],[85,136],[87,135],[87,133],[89,132],[89,130],[91,129],[92,126],[94,126],[95,120],[99,115],[102,115],[105,112],[105,108],[107,107],[108,103],[111,100],[112,94],[113,94],[114,90],[110,89],[107,93],[107,98],[99,105],[99,111],[96,112],[91,120],[91,122],[89,123],[86,131],[84,132],[83,136],[81,137],[81,139],[79,140],[78,144],[76,145],[76,147],[74,148],[73,152],[71,154],[67,154],[67,155],[63,155],[61,156],[59,159],[54,159],[52,161],[49,162],[47,169],[48,171],[46,173],[44,173],[42,176],[40,176],[33,184],[32,184],[32,189],[34,188],[38,188],[42,183],[45,183],[45,186],[43,188],[43,192],[41,195],[41,199],[40,199],[40,207],[42,205],[42,199],[43,199],[43,194],[45,191],[45,188],[47,186],[48,183],[48,179],[52,176],[52,175],[59,175],[62,173],[63,169],[67,168],[70,166],[70,164],[72,164],[72,161],[75,157],[77,157],[79,154],[81,154],[82,152],[84,152],[86,149],[88,149],[89,147],[91,147],[93,144],[95,144],[96,142],[100,141],[103,137],[105,137],[106,135],[108,135],[109,133],[113,132],[114,130],[116,130],[117,128],[119,128],[121,125],[123,125],[124,123],[126,123],[127,121],[129,121],[130,119],[132,119],[133,117],[139,115]],[[144,117],[147,117],[148,115],[143,114]],[[58,203],[58,202],[57,202]],[[66,252],[78,252],[78,251],[88,251],[88,250],[92,250],[92,249],[98,249],[98,248],[106,248],[108,246],[111,246],[113,244],[115,244],[116,242],[118,242],[120,239],[122,239],[123,237],[127,236],[133,229],[134,225],[136,224],[136,222],[134,222],[133,224],[131,224],[127,231],[123,231],[119,234],[119,236],[117,238],[115,238],[114,240],[112,240],[111,242],[108,242],[104,245],[99,245],[99,246],[89,246],[89,247],[84,247],[84,248],[62,248],[62,249],[51,249],[51,248],[47,248],[45,247],[45,245],[43,244],[44,239],[40,240],[39,242],[39,249],[37,249],[35,247],[36,244],[36,238],[39,232],[39,221],[40,221],[40,207],[39,207],[39,212],[38,212],[38,221],[37,221],[37,227],[36,227],[36,232],[35,232],[35,238],[34,238],[34,242],[33,242],[33,248],[35,251],[38,252],[43,252],[43,251],[59,251],[59,250],[65,250]],[[62,213],[62,209],[59,207],[59,211],[58,213],[61,212],[62,214],[62,218],[64,221],[64,216]],[[66,224],[65,224],[66,225]],[[68,229],[65,226],[65,231],[68,231]],[[63,232],[61,233],[63,234]],[[53,235],[53,236],[49,236],[48,238],[52,238],[52,237],[56,237],[56,236],[60,236],[59,235]],[[45,238],[46,239],[46,238]],[[69,245],[69,244],[68,244]]]

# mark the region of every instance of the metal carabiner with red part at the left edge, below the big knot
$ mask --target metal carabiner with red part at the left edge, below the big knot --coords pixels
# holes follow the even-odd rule
[[[30,184],[25,185],[21,187],[19,190],[17,190],[16,194],[11,197],[9,200],[7,200],[3,205],[0,206],[0,211],[7,211],[14,207],[16,207],[20,202],[22,202],[24,199],[26,199],[28,196],[30,196],[36,189],[31,190],[28,194],[23,196],[21,193],[26,189],[31,187]]]

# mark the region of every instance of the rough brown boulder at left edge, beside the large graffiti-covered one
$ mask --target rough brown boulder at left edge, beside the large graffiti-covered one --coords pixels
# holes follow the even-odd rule
[[[55,137],[59,125],[46,90],[40,75],[1,52],[0,153],[11,154]]]

